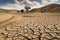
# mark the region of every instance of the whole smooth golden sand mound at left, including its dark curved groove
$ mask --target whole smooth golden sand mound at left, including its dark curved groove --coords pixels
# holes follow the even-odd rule
[[[14,14],[0,13],[0,26],[8,24],[10,22],[21,20],[22,16],[17,16]]]

